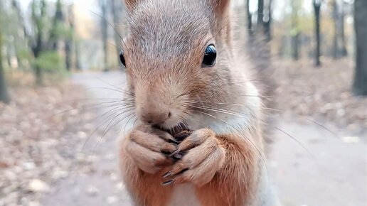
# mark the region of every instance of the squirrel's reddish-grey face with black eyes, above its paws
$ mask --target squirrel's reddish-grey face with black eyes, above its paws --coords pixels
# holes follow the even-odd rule
[[[230,98],[228,1],[126,1],[120,55],[140,121],[170,129]]]

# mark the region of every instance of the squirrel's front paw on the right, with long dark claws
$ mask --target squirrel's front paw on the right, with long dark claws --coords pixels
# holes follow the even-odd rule
[[[200,129],[182,141],[171,156],[183,157],[164,175],[167,180],[162,185],[193,183],[201,186],[209,183],[223,166],[225,149],[213,131]]]

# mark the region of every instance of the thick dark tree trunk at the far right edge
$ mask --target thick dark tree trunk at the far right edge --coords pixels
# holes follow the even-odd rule
[[[356,73],[353,93],[367,95],[367,1],[354,1],[354,28],[356,30]]]

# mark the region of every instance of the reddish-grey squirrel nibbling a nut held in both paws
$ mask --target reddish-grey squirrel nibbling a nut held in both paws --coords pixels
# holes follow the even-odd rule
[[[235,48],[230,0],[125,4],[119,58],[137,124],[122,136],[119,161],[134,205],[279,205],[262,99]]]

